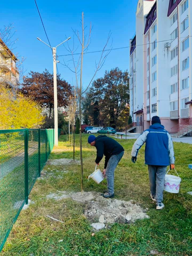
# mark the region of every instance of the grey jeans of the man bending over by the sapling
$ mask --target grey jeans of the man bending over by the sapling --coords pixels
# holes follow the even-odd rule
[[[115,168],[118,165],[118,162],[121,160],[123,154],[124,154],[124,151],[122,151],[121,153],[119,153],[117,155],[112,155],[109,158],[109,161],[107,163],[105,174],[106,174],[106,178],[107,178],[107,190],[110,195],[114,194],[114,172],[115,172]]]

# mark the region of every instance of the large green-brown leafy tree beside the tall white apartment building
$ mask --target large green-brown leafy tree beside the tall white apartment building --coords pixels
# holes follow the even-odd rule
[[[115,128],[118,118],[129,103],[128,72],[123,72],[118,67],[105,71],[103,78],[93,81],[90,93],[94,103],[98,102],[99,116],[105,120],[105,124]]]

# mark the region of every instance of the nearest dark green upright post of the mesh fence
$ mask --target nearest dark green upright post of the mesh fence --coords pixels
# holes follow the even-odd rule
[[[28,174],[29,174],[29,159],[28,159],[28,140],[29,130],[25,129],[25,203],[28,204]]]

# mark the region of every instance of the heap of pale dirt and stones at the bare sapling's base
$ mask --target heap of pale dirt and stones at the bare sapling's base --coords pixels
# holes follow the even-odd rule
[[[47,198],[56,201],[63,198],[71,198],[74,201],[85,203],[84,214],[91,223],[131,223],[137,219],[149,218],[146,209],[130,201],[122,201],[117,199],[106,199],[94,192],[66,192],[58,191],[50,193]]]

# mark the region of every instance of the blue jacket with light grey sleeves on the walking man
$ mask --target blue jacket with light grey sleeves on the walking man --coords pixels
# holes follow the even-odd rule
[[[133,157],[137,156],[144,143],[147,165],[168,166],[175,163],[173,142],[163,125],[154,123],[137,138],[131,151]]]

